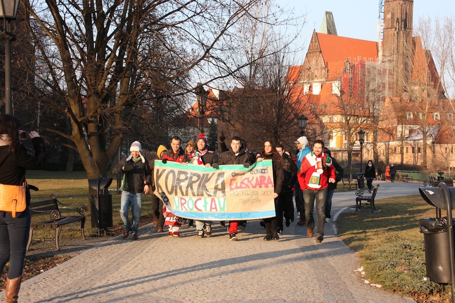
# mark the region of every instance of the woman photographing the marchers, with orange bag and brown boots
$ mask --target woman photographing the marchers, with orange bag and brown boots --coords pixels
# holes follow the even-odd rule
[[[28,137],[32,140],[34,149],[33,155],[30,155],[20,143],[20,136],[23,135],[26,133],[19,130],[17,118],[11,115],[0,115],[1,186],[24,186],[26,185],[26,169],[44,168],[46,147],[42,138],[37,132],[30,132]],[[0,191],[0,199],[5,200],[5,195],[5,190]],[[25,249],[30,231],[30,193],[28,191],[25,194],[25,202],[25,210],[21,212],[0,210],[0,272],[3,271],[6,262],[10,261],[6,279],[5,302],[18,302]]]

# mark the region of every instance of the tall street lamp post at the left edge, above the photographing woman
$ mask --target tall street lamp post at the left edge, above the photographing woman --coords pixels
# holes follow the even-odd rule
[[[11,42],[16,39],[13,21],[18,15],[19,0],[0,0],[0,19],[3,28],[0,32],[5,39],[5,114],[11,115]]]

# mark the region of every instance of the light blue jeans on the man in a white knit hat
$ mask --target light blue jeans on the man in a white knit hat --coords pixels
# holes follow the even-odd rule
[[[128,210],[130,207],[133,225],[131,225],[131,222],[128,219]],[[126,190],[122,191],[122,198],[120,199],[120,218],[122,218],[125,231],[131,230],[132,234],[138,234],[141,207],[142,193],[132,193]]]

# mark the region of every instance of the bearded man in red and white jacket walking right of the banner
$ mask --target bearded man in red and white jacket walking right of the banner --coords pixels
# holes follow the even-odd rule
[[[305,220],[307,235],[314,236],[315,219],[313,208],[316,201],[316,242],[321,243],[324,239],[325,203],[327,187],[329,183],[335,182],[335,169],[332,165],[332,158],[322,152],[324,141],[316,140],[313,143],[313,152],[308,153],[302,160],[297,177],[298,183],[303,190],[305,201]]]

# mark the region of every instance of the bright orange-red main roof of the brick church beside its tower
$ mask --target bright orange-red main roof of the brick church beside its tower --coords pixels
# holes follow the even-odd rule
[[[316,33],[324,62],[340,62],[350,58],[350,62],[378,58],[378,46],[374,41],[360,40]]]

